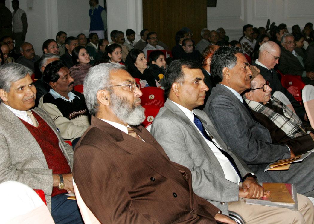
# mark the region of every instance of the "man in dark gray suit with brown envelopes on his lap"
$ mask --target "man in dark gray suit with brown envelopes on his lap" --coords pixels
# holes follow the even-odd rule
[[[273,144],[267,128],[257,122],[241,93],[251,88],[252,72],[245,56],[237,48],[220,47],[211,60],[215,83],[204,112],[213,121],[223,141],[236,153],[262,182],[295,184],[298,192],[314,196],[311,154],[302,163],[291,164],[286,171],[263,170],[269,163],[294,157],[290,148]]]

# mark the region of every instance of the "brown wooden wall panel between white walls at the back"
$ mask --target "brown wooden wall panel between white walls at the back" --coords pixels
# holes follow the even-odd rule
[[[143,0],[143,28],[156,32],[169,50],[182,27],[192,30],[195,43],[201,40],[201,30],[207,27],[206,0]]]

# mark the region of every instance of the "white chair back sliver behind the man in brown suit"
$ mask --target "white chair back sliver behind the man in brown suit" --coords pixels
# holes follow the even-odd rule
[[[100,224],[98,219],[95,217],[92,211],[85,205],[81,195],[79,194],[78,187],[76,186],[74,179],[73,180],[73,188],[76,197],[76,201],[78,203],[79,210],[81,212],[82,218],[85,224]]]

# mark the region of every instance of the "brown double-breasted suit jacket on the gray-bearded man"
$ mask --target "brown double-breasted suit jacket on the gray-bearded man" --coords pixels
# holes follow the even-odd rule
[[[77,143],[73,178],[100,222],[216,223],[219,209],[193,193],[190,170],[143,126],[133,127],[141,141],[98,118],[91,124]]]

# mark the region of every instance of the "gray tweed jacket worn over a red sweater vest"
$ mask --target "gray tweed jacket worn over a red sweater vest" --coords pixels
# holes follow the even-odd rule
[[[73,149],[57,132],[50,116],[40,108],[33,109],[43,118],[59,139],[59,147],[66,157],[71,171]],[[51,209],[52,170],[35,138],[25,125],[3,103],[0,104],[0,183],[15,180],[33,189],[45,192],[46,202]]]

